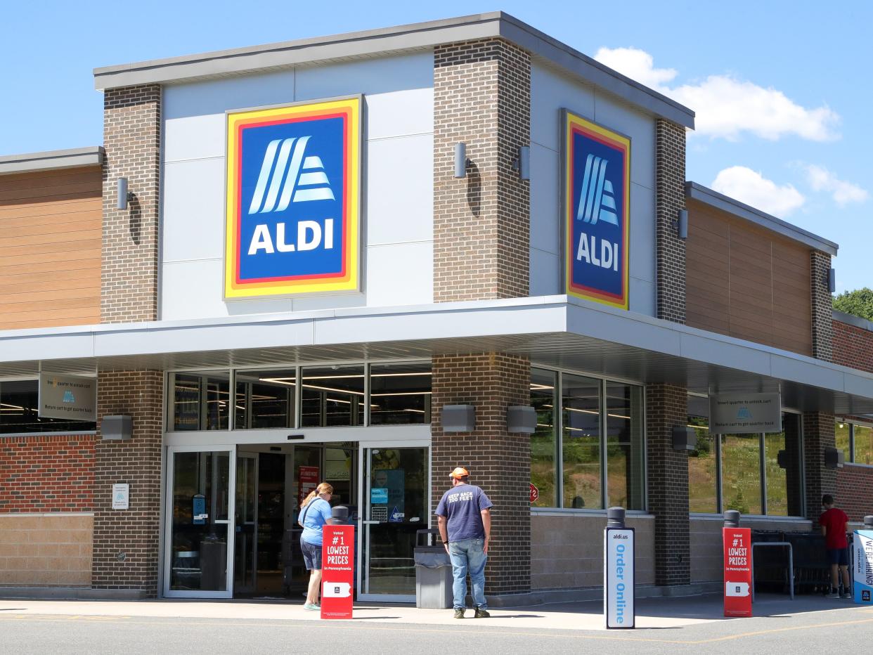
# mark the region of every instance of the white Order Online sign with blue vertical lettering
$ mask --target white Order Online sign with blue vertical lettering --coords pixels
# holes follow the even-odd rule
[[[603,615],[607,628],[633,628],[634,528],[607,527],[603,531]]]

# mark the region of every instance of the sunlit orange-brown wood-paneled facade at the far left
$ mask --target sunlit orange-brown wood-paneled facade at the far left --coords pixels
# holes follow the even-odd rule
[[[100,166],[0,176],[0,329],[100,322]]]

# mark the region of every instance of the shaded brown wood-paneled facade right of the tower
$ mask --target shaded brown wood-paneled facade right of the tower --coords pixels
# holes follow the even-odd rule
[[[809,247],[688,198],[686,322],[812,355]]]

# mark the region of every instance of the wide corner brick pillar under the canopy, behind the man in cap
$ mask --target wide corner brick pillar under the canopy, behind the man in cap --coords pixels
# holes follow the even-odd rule
[[[456,466],[470,471],[491,510],[491,550],[485,593],[525,593],[531,587],[531,448],[526,434],[506,431],[506,408],[530,404],[530,365],[523,357],[478,353],[433,359],[431,479],[434,503],[450,487]],[[476,407],[476,430],[443,433],[443,405]]]

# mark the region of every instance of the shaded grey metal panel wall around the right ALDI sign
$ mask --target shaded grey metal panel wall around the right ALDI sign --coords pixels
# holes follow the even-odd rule
[[[630,137],[630,309],[655,315],[655,119],[534,63],[531,69],[531,295],[560,288],[560,110]]]

